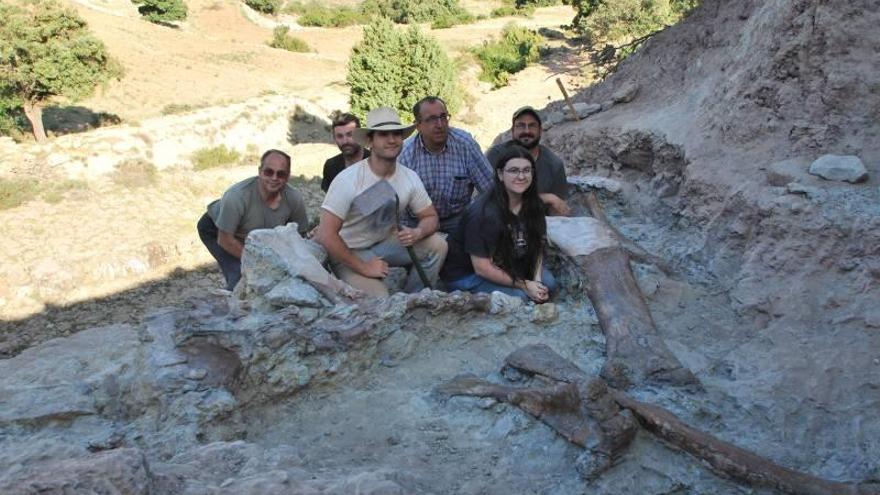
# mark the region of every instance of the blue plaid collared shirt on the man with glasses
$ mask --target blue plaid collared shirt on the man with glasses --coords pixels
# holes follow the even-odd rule
[[[441,220],[461,213],[471,202],[474,187],[480,192],[492,187],[492,167],[480,145],[454,127],[449,128],[446,147],[437,154],[428,151],[420,136],[408,138],[397,163],[419,175]]]

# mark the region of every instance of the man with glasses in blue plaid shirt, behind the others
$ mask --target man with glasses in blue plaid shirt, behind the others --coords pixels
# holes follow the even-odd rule
[[[492,167],[467,132],[449,127],[446,103],[427,96],[413,106],[417,136],[407,139],[397,162],[411,168],[440,215],[442,232],[456,226],[473,196],[492,187]]]

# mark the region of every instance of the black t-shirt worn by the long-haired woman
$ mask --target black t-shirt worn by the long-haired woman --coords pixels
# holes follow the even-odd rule
[[[474,273],[471,255],[481,258],[492,258],[492,262],[517,278],[531,278],[530,267],[526,266],[526,238],[521,221],[512,225],[504,225],[504,217],[492,199],[492,190],[477,197],[462,213],[458,228],[453,230],[446,239],[449,252],[440,276],[446,282],[460,280]],[[513,266],[504,266],[495,259],[496,248],[502,235],[513,238]]]

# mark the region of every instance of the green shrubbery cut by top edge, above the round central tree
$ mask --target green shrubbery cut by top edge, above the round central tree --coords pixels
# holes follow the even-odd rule
[[[385,17],[398,24],[441,20],[447,24],[473,22],[474,16],[458,0],[364,0],[361,13],[367,17]]]

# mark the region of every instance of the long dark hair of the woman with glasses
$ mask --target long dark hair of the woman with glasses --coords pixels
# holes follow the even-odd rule
[[[507,162],[514,158],[524,158],[532,165],[532,183],[528,189],[523,192],[522,206],[519,215],[514,215],[510,211],[510,197],[504,183],[498,177],[499,173],[504,173],[504,166]],[[501,212],[501,219],[504,222],[504,233],[498,240],[496,247],[496,258],[499,267],[504,270],[514,280],[517,280],[517,272],[528,274],[529,280],[534,280],[535,271],[538,268],[538,260],[544,252],[544,236],[547,233],[547,221],[544,218],[544,203],[538,196],[538,170],[535,168],[535,158],[531,153],[522,146],[509,145],[505,146],[501,155],[492,164],[495,168],[495,187],[491,193],[491,203]],[[489,201],[487,201],[489,203]],[[519,219],[522,222],[526,237],[526,262],[527,270],[514,269],[514,222]]]

